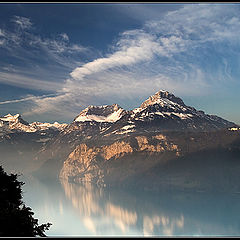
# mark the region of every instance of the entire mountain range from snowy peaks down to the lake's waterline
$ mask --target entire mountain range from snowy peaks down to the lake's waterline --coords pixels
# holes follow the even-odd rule
[[[239,156],[238,129],[160,90],[130,111],[117,104],[88,106],[70,124],[28,123],[19,114],[1,117],[0,159],[9,169],[18,166],[45,179],[105,187],[212,189],[203,180],[207,166],[220,159],[230,167],[229,159]],[[233,162],[235,178],[240,168]]]

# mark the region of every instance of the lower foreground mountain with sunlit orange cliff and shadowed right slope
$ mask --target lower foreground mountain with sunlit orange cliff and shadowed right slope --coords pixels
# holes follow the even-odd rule
[[[107,187],[238,191],[239,139],[238,132],[216,131],[89,140],[68,156],[60,177]],[[218,180],[224,177],[229,181]]]

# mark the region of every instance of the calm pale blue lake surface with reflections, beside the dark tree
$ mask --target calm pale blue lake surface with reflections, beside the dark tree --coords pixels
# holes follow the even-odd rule
[[[48,236],[240,236],[240,195],[106,190],[22,176]]]

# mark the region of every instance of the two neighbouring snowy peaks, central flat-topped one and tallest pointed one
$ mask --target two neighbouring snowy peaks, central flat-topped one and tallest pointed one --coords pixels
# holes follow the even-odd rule
[[[96,109],[99,111],[104,108],[112,109],[111,114],[115,114],[115,119],[108,119],[104,114],[96,118],[95,115],[98,115],[96,114],[97,111],[94,115],[91,115],[90,110]],[[120,111],[120,114],[117,114],[117,111]],[[84,118],[76,121],[81,115],[84,116]],[[139,107],[128,111],[121,108],[118,104],[103,106],[90,105],[80,112],[73,122],[111,122],[113,125],[116,123],[119,124],[119,127],[120,125],[122,125],[121,127],[126,127],[129,123],[132,126],[139,126],[142,124],[141,122],[147,122],[147,124],[149,124],[149,122],[153,123],[153,120],[156,120],[155,123],[159,123],[157,125],[162,130],[174,128],[175,130],[210,131],[237,126],[235,123],[221,117],[205,114],[202,110],[196,110],[194,107],[187,106],[181,98],[176,97],[166,90],[159,90],[142,102]],[[126,122],[125,126],[123,126],[124,121]],[[171,122],[168,127],[167,122]],[[161,127],[161,125],[163,125],[163,127]]]

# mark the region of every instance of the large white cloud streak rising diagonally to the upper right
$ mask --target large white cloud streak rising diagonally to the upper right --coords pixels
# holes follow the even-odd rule
[[[170,12],[159,21],[149,21],[143,29],[122,33],[113,54],[74,69],[70,74],[72,81],[80,82],[87,76],[113,68],[155,61],[156,57],[165,57],[173,61],[177,54],[188,52],[187,54],[191,55],[194,49],[204,48],[206,42],[232,40],[238,37],[234,31],[240,27],[236,17],[230,17],[229,11],[224,14],[222,6],[214,6],[210,10],[208,8],[202,5],[188,5]],[[222,15],[224,18],[219,22],[218,18],[221,19]],[[228,21],[225,21],[226,18]],[[175,60],[174,63],[179,62]],[[161,61],[157,64],[160,71],[166,67]],[[152,70],[150,66],[148,72],[151,74]],[[70,82],[68,80],[68,83]],[[74,81],[74,84],[77,84],[77,81]]]

